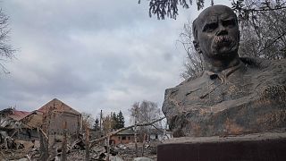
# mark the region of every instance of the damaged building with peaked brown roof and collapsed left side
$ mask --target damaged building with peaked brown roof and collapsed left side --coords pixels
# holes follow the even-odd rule
[[[81,114],[57,98],[32,112],[10,107],[0,111],[0,142],[7,137],[38,140],[38,128],[46,132],[50,143],[61,139],[64,128],[72,139],[77,139],[81,122]]]

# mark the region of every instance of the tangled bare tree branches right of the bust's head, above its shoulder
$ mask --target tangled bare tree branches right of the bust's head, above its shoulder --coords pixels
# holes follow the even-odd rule
[[[240,20],[240,55],[286,58],[286,4],[245,0],[233,3]]]

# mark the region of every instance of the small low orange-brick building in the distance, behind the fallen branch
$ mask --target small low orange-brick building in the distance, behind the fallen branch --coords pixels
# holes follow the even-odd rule
[[[120,131],[110,138],[110,144],[128,144],[130,142],[135,142],[134,131],[131,129]]]

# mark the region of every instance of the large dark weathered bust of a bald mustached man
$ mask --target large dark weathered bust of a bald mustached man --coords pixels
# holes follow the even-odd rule
[[[166,89],[163,112],[174,137],[235,135],[286,128],[286,60],[240,57],[238,19],[214,5],[193,22],[204,72]]]

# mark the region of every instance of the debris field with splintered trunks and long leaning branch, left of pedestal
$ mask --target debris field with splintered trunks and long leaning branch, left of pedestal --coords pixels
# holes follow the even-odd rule
[[[89,140],[89,130],[80,131],[76,137],[67,131],[67,123],[63,124],[63,133],[59,137],[51,135],[50,122],[45,121],[38,127],[38,122],[48,120],[52,112],[38,116],[37,113],[17,112],[12,108],[0,111],[0,161],[34,161],[34,160],[110,160],[132,161],[142,151],[141,158],[147,161],[156,160],[156,144],[145,141],[144,143],[129,143],[108,145],[111,136],[120,131],[132,128],[124,127],[111,131],[96,140]],[[13,114],[13,117],[10,117]],[[16,115],[18,114],[18,115]],[[54,113],[53,113],[54,114]],[[37,116],[37,119],[36,119]],[[31,122],[31,118],[34,121]],[[164,119],[160,118],[151,123],[138,123],[137,126],[146,126]],[[37,122],[37,123],[36,123]],[[52,131],[55,134],[55,132]],[[24,135],[28,134],[28,135]],[[52,136],[52,137],[51,137]],[[51,142],[52,140],[52,142]],[[108,146],[105,146],[108,145]],[[136,148],[137,147],[137,148]],[[138,157],[139,159],[139,157]],[[151,159],[151,160],[150,160]]]

